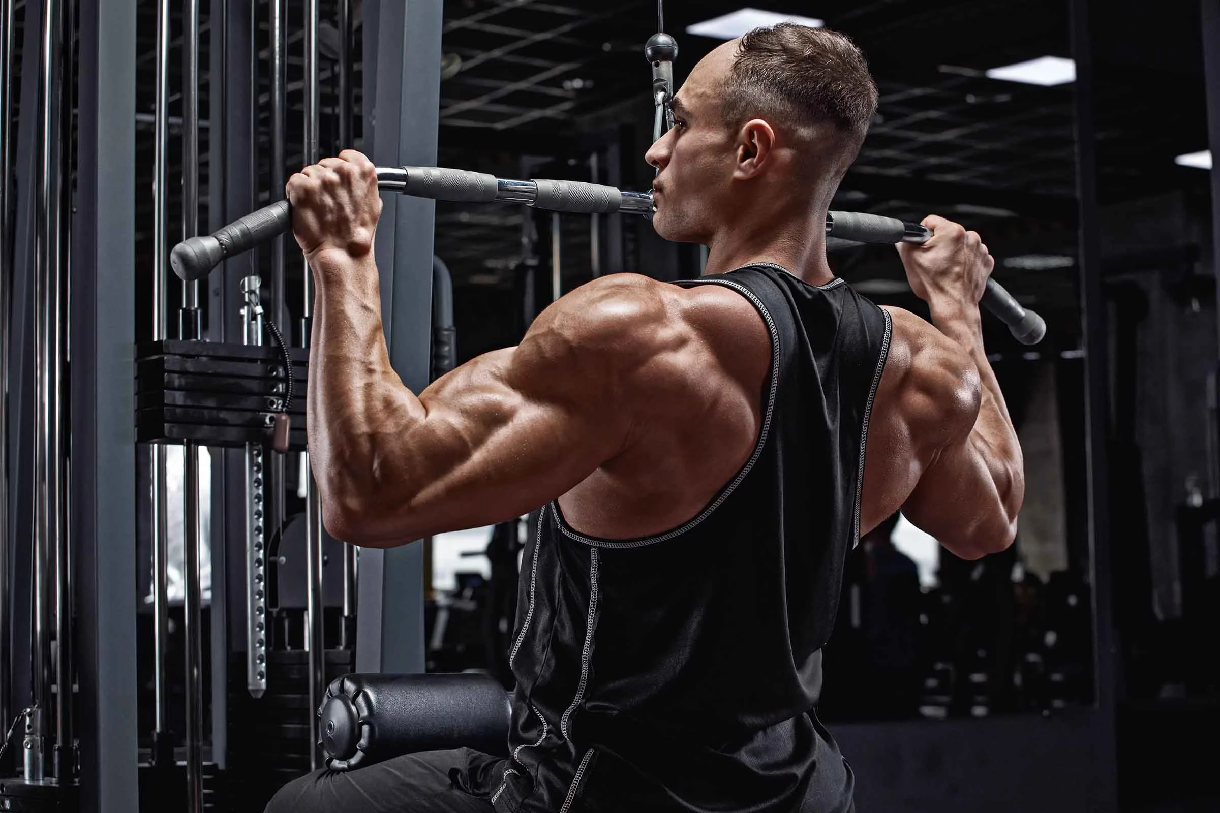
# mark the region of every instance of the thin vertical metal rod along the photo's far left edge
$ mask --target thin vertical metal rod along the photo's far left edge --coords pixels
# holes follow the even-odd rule
[[[12,251],[9,232],[9,184],[12,160],[12,0],[0,0],[0,720],[12,712],[12,552],[9,538],[9,324],[12,300]]]

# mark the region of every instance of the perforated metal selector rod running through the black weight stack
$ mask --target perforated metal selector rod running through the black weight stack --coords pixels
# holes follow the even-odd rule
[[[262,280],[251,274],[242,279],[245,305],[242,307],[242,341],[262,344],[262,307],[259,290]],[[274,458],[282,462],[283,456]],[[266,486],[264,451],[259,444],[245,445],[245,687],[254,698],[267,691],[267,568],[266,568]],[[283,489],[283,483],[277,484]]]

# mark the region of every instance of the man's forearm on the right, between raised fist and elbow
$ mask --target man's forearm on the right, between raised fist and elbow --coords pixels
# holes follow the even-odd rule
[[[1021,445],[1004,394],[983,350],[982,318],[978,307],[947,297],[933,297],[930,305],[932,323],[970,356],[978,371],[981,397],[970,444],[983,457],[983,463],[996,479],[997,491],[1006,513],[1015,517],[1025,495]]]

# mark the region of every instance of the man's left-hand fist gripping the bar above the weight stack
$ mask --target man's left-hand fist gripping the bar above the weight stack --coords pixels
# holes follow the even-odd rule
[[[293,233],[306,260],[328,249],[362,257],[373,250],[381,196],[377,169],[362,152],[344,150],[288,179]]]

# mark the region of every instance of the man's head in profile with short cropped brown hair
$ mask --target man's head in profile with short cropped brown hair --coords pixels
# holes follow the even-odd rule
[[[864,55],[845,35],[781,23],[725,43],[673,99],[675,127],[648,151],[660,169],[656,230],[710,243],[759,207],[814,215],[830,204],[877,108]]]

